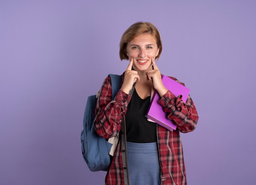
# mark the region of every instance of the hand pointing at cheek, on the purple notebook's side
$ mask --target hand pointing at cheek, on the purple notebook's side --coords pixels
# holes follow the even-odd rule
[[[166,94],[166,92],[168,91],[168,89],[166,89],[166,87],[164,87],[164,84],[162,82],[161,72],[159,71],[159,69],[155,63],[155,59],[151,58],[151,61],[152,61],[152,65],[153,65],[154,69],[148,71],[146,73],[146,76],[147,76],[148,80],[152,80],[153,87],[157,90],[159,95],[161,97],[163,97],[164,94]]]

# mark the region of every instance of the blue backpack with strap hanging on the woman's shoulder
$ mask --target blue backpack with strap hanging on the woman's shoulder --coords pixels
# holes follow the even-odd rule
[[[109,74],[112,85],[112,99],[115,98],[121,87],[121,76]],[[110,165],[110,149],[108,140],[99,136],[94,128],[96,95],[88,97],[83,117],[83,130],[81,132],[82,154],[92,172],[108,171]]]

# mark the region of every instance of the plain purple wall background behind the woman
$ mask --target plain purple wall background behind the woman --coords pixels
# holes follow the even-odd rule
[[[103,184],[81,154],[85,102],[126,69],[119,40],[140,20],[198,109],[182,134],[188,184],[256,184],[254,0],[1,0],[1,185]]]

